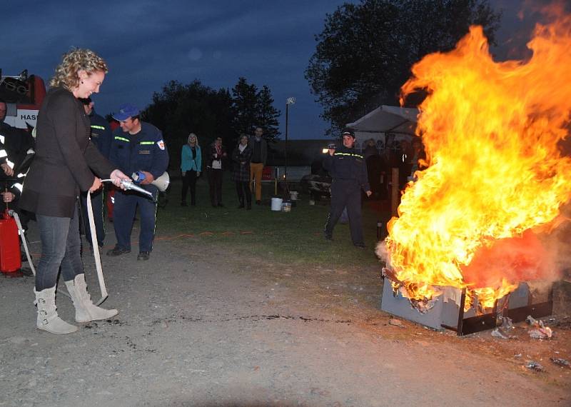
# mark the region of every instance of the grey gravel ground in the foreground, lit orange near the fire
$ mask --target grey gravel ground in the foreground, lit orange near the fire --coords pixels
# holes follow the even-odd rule
[[[0,406],[571,405],[571,369],[522,367],[537,346],[569,358],[569,331],[529,344],[390,326],[376,270],[265,257],[200,238],[157,241],[148,262],[103,256],[120,313],[67,336],[34,328],[31,278],[0,278]]]

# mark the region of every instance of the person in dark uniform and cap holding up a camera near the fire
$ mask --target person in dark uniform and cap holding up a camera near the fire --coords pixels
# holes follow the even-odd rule
[[[361,225],[361,189],[370,196],[371,191],[367,179],[365,158],[357,154],[355,134],[353,131],[343,132],[343,146],[329,149],[328,156],[323,159],[323,167],[329,171],[331,182],[331,208],[325,223],[325,238],[333,237],[333,228],[339,220],[345,206],[349,216],[351,239],[358,248],[364,248],[363,226]]]

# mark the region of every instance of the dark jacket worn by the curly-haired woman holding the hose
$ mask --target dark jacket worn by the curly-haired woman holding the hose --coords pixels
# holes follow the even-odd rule
[[[36,156],[24,181],[20,207],[38,215],[71,218],[80,191],[94,174],[116,168],[89,140],[91,124],[79,100],[64,88],[50,89],[38,114]]]

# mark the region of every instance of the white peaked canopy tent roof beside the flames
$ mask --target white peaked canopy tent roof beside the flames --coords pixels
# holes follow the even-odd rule
[[[383,149],[387,144],[413,137],[419,114],[418,109],[383,105],[348,123],[347,127],[355,131],[358,146],[363,146],[365,140],[374,139]]]

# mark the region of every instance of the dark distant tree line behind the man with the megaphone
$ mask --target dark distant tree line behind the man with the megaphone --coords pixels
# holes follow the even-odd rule
[[[220,136],[232,149],[241,134],[251,136],[256,126],[262,126],[266,139],[276,141],[281,112],[273,102],[268,86],[258,89],[243,77],[232,89],[212,89],[198,79],[190,84],[169,81],[153,93],[153,101],[141,112],[141,119],[163,131],[174,168],[191,132],[198,136],[201,146]]]

